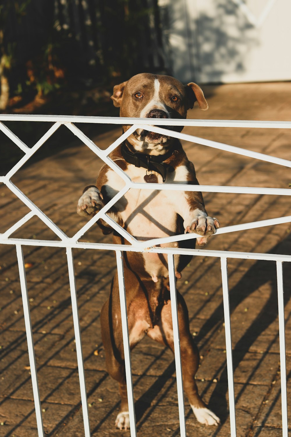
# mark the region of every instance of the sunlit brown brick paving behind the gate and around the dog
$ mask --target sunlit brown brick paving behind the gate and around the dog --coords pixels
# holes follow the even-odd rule
[[[189,118],[291,118],[291,83],[206,87],[205,94],[209,111],[202,113],[195,109]],[[84,125],[81,128],[87,129]],[[38,155],[12,180],[72,236],[86,222],[75,213],[79,194],[84,186],[94,183],[100,162],[73,135],[63,144],[62,129],[65,127],[44,146],[48,156]],[[89,131],[101,147],[108,146],[120,132],[113,129],[96,136],[96,126]],[[187,128],[184,132],[291,158],[291,132],[284,129]],[[54,145],[60,142],[60,149],[51,155],[49,147],[53,141]],[[286,188],[291,182],[290,171],[281,166],[190,143],[185,143],[185,150],[195,163],[201,184]],[[6,187],[0,187],[0,194],[0,232],[4,232],[28,210]],[[209,214],[218,217],[224,226],[291,214],[290,199],[284,197],[205,193],[204,198]],[[213,237],[206,248],[290,254],[290,229],[287,224],[233,232]],[[38,218],[33,218],[14,236],[55,239]],[[94,228],[84,240],[110,242],[111,238]],[[0,435],[34,437],[37,429],[14,246],[2,246],[1,255]],[[115,269],[115,256],[93,250],[75,250],[74,256],[92,436],[120,435],[114,428],[119,397],[116,383],[106,373],[99,326],[100,309],[108,296]],[[32,264],[27,268],[27,283],[45,433],[51,437],[83,436],[65,250],[24,247],[24,257],[25,262]],[[281,436],[275,263],[229,260],[228,265],[237,435]],[[290,284],[290,267],[285,265],[288,375],[291,374]],[[186,403],[188,436],[229,436],[219,260],[192,260],[178,281],[178,288],[188,304],[191,330],[202,357],[197,375],[199,389],[222,419],[219,428],[204,427],[197,423]],[[94,354],[96,350],[98,355]],[[175,363],[171,353],[145,338],[133,351],[132,364],[138,435],[178,436]]]

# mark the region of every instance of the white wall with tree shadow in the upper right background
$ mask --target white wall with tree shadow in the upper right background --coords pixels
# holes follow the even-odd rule
[[[159,0],[168,66],[183,82],[291,80],[291,0]]]

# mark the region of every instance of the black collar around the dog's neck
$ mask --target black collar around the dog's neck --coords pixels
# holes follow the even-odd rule
[[[132,153],[126,146],[125,142],[121,145],[121,153],[127,163],[133,164],[136,167],[143,167],[147,170],[160,173],[163,182],[166,180],[168,170],[173,171],[173,167],[164,163],[165,160],[173,155],[175,150],[169,150],[164,155],[145,155],[144,153]]]

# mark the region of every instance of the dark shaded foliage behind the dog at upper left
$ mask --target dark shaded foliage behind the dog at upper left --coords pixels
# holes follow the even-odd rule
[[[23,103],[163,70],[157,0],[4,0],[0,29],[0,70]]]

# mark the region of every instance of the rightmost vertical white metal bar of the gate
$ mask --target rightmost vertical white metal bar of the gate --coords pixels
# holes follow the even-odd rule
[[[288,437],[283,265],[282,265],[282,261],[276,261],[276,264],[277,264],[277,290],[278,290],[279,339],[280,339],[282,429],[283,429],[283,437]]]

